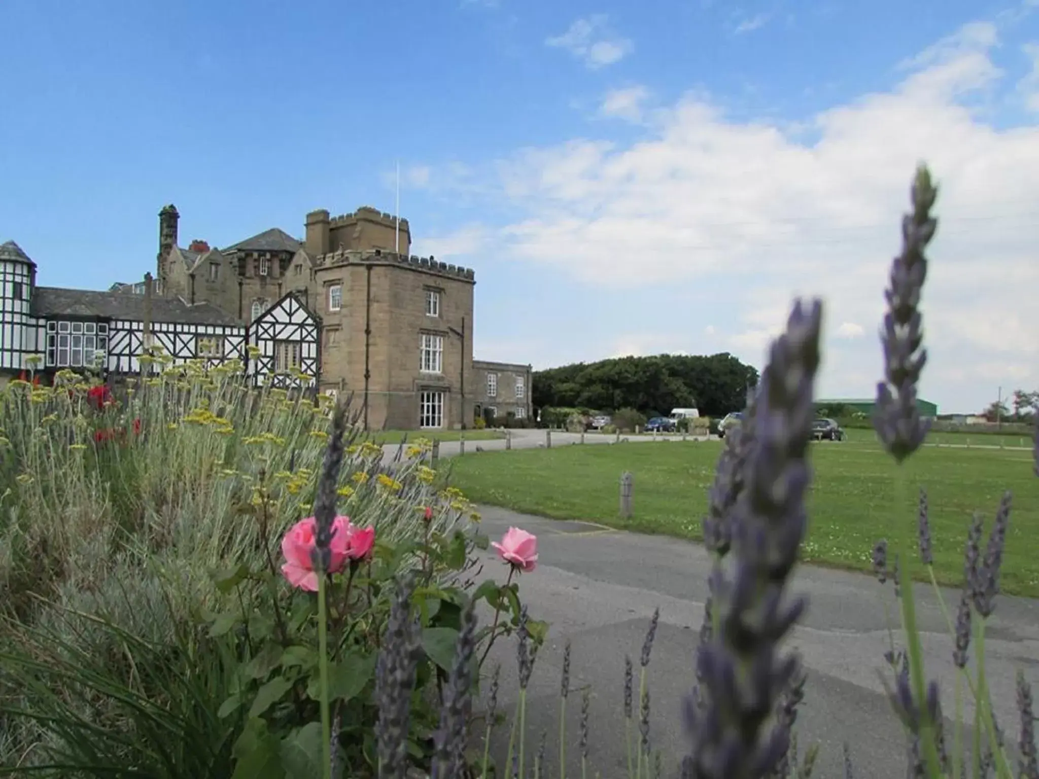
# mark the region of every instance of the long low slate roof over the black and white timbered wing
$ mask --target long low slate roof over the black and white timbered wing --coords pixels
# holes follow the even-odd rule
[[[144,319],[144,296],[125,292],[66,290],[59,287],[37,287],[32,299],[32,313],[37,317],[60,315],[105,317],[109,319]],[[152,298],[153,322],[185,324],[238,325],[235,317],[224,314],[211,303],[189,305],[180,298]]]

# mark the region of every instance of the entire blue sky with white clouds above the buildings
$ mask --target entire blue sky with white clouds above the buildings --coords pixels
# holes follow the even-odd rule
[[[827,303],[820,393],[873,394],[917,160],[942,183],[924,397],[1039,387],[1031,2],[412,0],[0,6],[0,240],[39,283],[401,212],[477,273],[479,356],[732,351]]]

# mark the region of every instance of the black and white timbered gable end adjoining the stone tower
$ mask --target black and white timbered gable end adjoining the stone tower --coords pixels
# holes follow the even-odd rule
[[[259,356],[249,359],[257,384],[313,387],[321,370],[318,318],[292,292],[284,295],[249,325],[249,345]],[[305,379],[298,376],[302,374]]]

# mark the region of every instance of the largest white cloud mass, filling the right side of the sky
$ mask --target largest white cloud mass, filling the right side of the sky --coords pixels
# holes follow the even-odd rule
[[[654,316],[654,290],[716,287],[732,321],[721,322],[719,303],[698,328],[714,322],[720,342],[757,365],[793,296],[821,295],[820,392],[870,395],[883,288],[923,160],[940,189],[922,395],[973,410],[990,385],[1039,387],[1039,125],[995,126],[970,107],[1014,88],[991,58],[998,32],[964,26],[904,62],[889,90],[804,117],[807,136],[727,118],[690,95],[629,145],[524,150],[496,163],[521,216],[488,241],[500,256],[644,295]]]

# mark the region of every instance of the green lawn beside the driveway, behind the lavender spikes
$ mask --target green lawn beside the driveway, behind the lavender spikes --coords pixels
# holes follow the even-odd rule
[[[925,485],[935,573],[958,585],[971,513],[991,518],[1010,489],[1003,589],[1039,596],[1039,479],[1031,451],[925,448],[905,466],[905,500],[896,515],[893,461],[869,441],[870,431],[853,432],[863,435],[814,446],[806,562],[868,569],[873,543],[884,536],[901,536],[916,559],[917,486]],[[484,452],[452,460],[451,482],[476,503],[698,539],[719,451],[715,441],[662,441]],[[625,469],[635,477],[630,520],[618,515]]]

